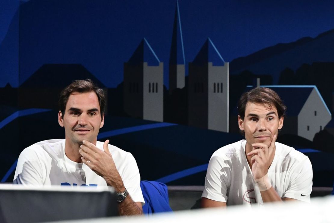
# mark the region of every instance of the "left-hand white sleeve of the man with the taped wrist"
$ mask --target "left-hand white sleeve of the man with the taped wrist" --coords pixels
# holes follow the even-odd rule
[[[204,191],[202,197],[210,200],[227,202],[227,188],[230,185],[230,166],[224,162],[224,157],[213,154],[210,158],[206,172]]]

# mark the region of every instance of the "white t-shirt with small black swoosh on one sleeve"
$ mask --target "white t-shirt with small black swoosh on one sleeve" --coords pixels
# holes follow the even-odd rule
[[[227,205],[263,205],[245,155],[246,140],[215,151],[209,161],[202,197]],[[309,158],[292,147],[275,142],[276,151],[268,170],[269,180],[281,198],[310,202],[312,165]]]

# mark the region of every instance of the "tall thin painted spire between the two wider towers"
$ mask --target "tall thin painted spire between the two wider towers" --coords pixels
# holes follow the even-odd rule
[[[182,89],[185,80],[185,59],[180,20],[179,2],[176,1],[172,45],[169,57],[169,94],[176,88]]]

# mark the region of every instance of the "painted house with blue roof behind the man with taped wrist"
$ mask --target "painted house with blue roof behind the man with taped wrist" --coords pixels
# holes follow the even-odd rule
[[[272,85],[288,107],[281,134],[294,134],[313,141],[323,130],[332,114],[315,85]],[[247,86],[247,91],[252,87]]]

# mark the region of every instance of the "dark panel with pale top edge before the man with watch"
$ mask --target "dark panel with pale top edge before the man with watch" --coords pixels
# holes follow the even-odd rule
[[[44,222],[118,215],[112,187],[0,184],[0,222]]]

